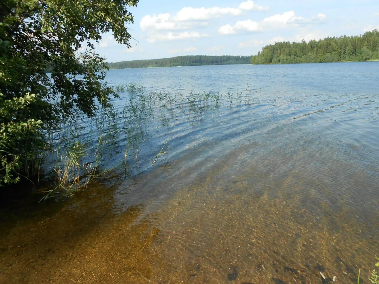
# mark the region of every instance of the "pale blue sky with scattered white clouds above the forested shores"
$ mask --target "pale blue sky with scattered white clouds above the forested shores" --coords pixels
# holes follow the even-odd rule
[[[133,48],[104,34],[108,62],[178,55],[254,55],[276,41],[379,30],[378,0],[140,0],[130,9]]]

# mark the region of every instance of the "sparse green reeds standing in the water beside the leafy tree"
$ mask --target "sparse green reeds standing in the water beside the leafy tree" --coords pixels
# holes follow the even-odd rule
[[[255,91],[257,97],[260,93],[260,89],[251,90],[248,85],[243,91],[228,92],[224,98],[221,93],[211,91],[191,90],[188,94],[180,91],[172,94],[163,89],[147,91],[143,84],[135,83],[114,88],[128,92],[122,108],[117,109],[113,104],[100,108],[92,119],[78,111],[76,120],[66,121],[58,130],[47,133],[50,143],[46,147],[43,167],[45,173],[52,172],[55,186],[46,192],[44,199],[61,193],[72,196],[75,191],[85,189],[94,178],[117,170],[119,166],[125,176],[129,176],[133,170],[139,171],[139,156],[145,154],[140,145],[161,127],[170,129],[179,116],[196,125],[207,112],[213,118],[225,103],[232,107],[245,100],[249,106],[251,92]],[[168,154],[164,151],[167,142],[149,167]],[[119,153],[123,153],[120,161],[114,160]]]

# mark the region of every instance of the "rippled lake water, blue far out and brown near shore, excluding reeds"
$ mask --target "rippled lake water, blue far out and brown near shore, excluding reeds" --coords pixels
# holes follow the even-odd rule
[[[356,283],[360,268],[368,282],[379,62],[121,69],[107,80],[175,100],[136,124],[128,176],[2,211],[1,283]],[[188,100],[191,90],[222,97]]]

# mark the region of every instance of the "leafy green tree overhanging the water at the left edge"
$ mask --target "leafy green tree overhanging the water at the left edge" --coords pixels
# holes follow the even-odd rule
[[[116,95],[94,51],[102,33],[130,47],[138,0],[6,0],[0,4],[0,185],[42,150],[38,133]],[[80,52],[82,51],[82,52]],[[46,73],[46,70],[51,73]],[[34,138],[33,138],[34,137]],[[37,148],[36,148],[37,146]]]

